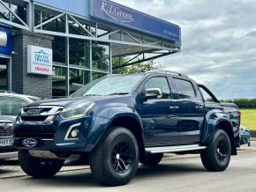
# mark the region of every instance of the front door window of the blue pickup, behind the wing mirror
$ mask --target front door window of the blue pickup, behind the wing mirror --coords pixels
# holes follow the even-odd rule
[[[160,89],[162,92],[162,98],[159,99],[172,99],[167,78],[150,78],[145,84],[145,88],[146,90]]]

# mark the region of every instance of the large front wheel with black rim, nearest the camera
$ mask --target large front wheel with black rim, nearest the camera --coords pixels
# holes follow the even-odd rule
[[[119,151],[119,144],[121,144],[120,149],[122,144],[124,146],[123,151],[120,150],[120,154],[117,152]],[[130,162],[130,164],[124,166],[123,162],[127,164]],[[139,147],[137,140],[132,132],[125,128],[111,128],[90,154],[90,166],[94,178],[107,186],[121,186],[132,181],[138,165]]]

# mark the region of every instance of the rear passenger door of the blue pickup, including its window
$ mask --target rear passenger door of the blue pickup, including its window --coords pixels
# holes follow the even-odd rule
[[[200,130],[204,123],[204,102],[198,86],[185,78],[173,78],[179,107],[179,141],[182,144],[200,142]]]

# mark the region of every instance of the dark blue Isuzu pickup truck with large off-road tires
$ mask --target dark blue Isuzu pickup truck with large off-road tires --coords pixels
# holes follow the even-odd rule
[[[132,180],[139,162],[156,166],[169,152],[198,152],[207,170],[224,171],[237,155],[239,124],[235,104],[220,103],[183,74],[158,70],[109,75],[71,98],[23,107],[14,145],[30,176],[53,176],[64,159],[87,154],[94,177],[119,186]]]

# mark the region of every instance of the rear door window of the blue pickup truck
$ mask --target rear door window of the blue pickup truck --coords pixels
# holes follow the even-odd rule
[[[174,83],[177,87],[178,99],[192,99],[196,96],[191,82],[174,78]]]

